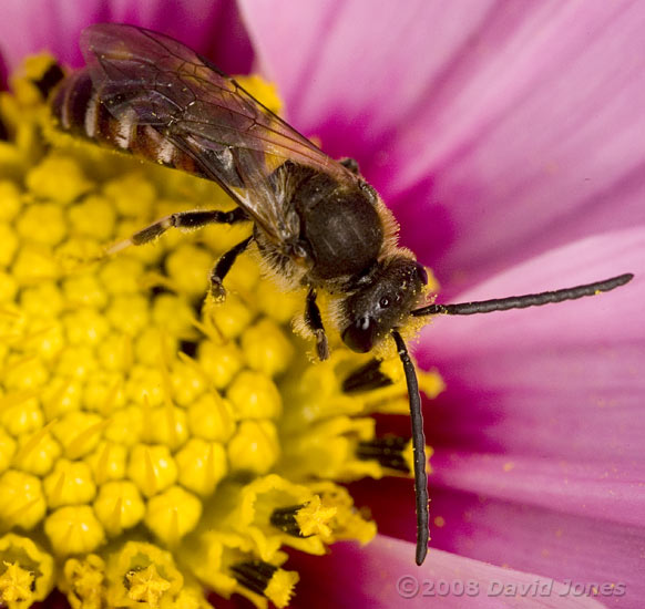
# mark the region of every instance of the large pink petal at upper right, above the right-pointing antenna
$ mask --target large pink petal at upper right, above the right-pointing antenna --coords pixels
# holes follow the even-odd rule
[[[242,7],[294,124],[359,157],[444,281],[645,220],[643,4]]]

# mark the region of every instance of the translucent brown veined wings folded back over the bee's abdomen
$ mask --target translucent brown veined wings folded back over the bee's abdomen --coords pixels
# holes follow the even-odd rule
[[[270,176],[286,161],[356,179],[208,60],[163,34],[101,23],[81,35],[99,97],[191,155],[276,241],[298,223]]]

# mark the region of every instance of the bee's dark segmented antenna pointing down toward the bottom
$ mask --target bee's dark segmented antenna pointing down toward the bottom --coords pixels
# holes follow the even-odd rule
[[[397,351],[406,372],[406,383],[410,400],[410,419],[412,422],[412,452],[414,455],[414,495],[417,499],[417,565],[422,565],[428,554],[428,475],[426,474],[426,436],[423,435],[423,415],[421,414],[421,396],[414,364],[408,353],[408,348],[401,334],[392,330]]]

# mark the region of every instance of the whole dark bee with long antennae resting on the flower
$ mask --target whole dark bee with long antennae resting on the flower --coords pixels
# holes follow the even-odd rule
[[[329,355],[317,304],[330,301],[345,344],[360,353],[393,340],[405,370],[412,426],[417,498],[416,561],[428,551],[428,481],[421,400],[403,336],[418,318],[472,314],[560,302],[608,291],[631,273],[552,292],[483,302],[427,304],[428,275],[398,245],[398,225],[351,159],[335,161],[234,79],[184,44],[133,25],[85,29],[86,66],[51,99],[60,127],[99,144],[217,183],[232,211],[172,214],[110,248],[146,244],[170,228],[253,223],[249,237],[211,271],[211,292],[252,245],[287,289],[306,289],[304,322],[320,360]],[[421,322],[422,323],[422,322]]]

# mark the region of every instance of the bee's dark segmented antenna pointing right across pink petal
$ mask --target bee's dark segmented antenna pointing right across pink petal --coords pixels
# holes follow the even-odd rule
[[[564,300],[575,300],[583,296],[594,296],[600,292],[608,292],[620,286],[624,286],[634,279],[634,275],[626,272],[612,279],[586,283],[575,288],[564,288],[562,290],[528,293],[525,296],[511,296],[509,298],[495,298],[493,300],[480,300],[479,302],[460,302],[459,304],[429,304],[414,309],[412,317],[423,316],[472,316],[474,313],[490,313],[492,311],[508,311],[509,309],[525,309],[526,307],[541,307],[551,302],[562,302]]]

